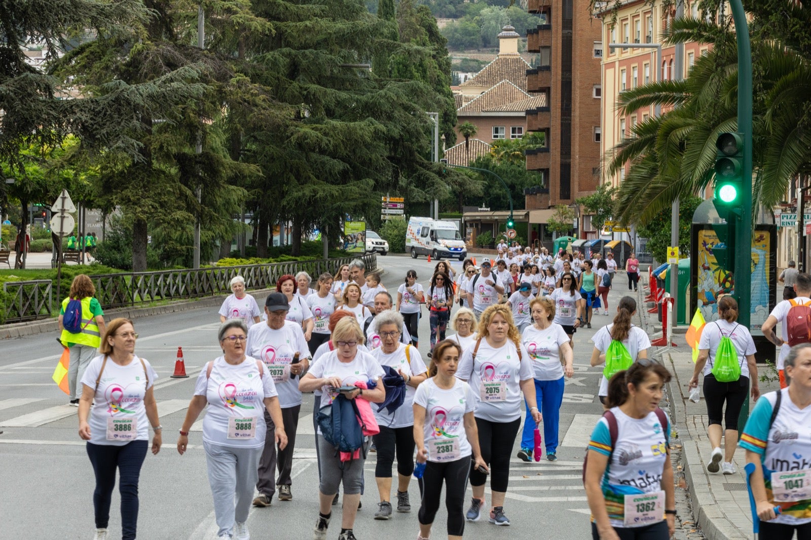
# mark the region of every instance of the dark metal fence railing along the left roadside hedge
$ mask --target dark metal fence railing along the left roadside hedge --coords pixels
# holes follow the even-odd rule
[[[245,278],[246,289],[268,289],[285,274],[307,272],[317,279],[320,274],[335,274],[338,268],[361,259],[367,272],[377,269],[377,256],[373,253],[357,257],[290,261],[272,264],[246,264],[217,268],[161,270],[157,272],[121,272],[91,275],[96,287],[96,298],[101,306],[137,306],[161,300],[202,298],[217,294],[230,294],[229,283],[234,276]],[[52,285],[50,280],[6,281],[3,291],[11,294],[13,302],[6,305],[6,323],[42,319],[52,315]],[[36,286],[35,286],[36,285]],[[61,298],[58,298],[58,302]]]

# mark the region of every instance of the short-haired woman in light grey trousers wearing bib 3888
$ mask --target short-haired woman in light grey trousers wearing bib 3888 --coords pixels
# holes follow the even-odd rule
[[[195,395],[180,428],[178,453],[182,456],[186,452],[191,426],[208,404],[203,448],[219,527],[217,536],[248,538],[248,512],[267,431],[263,409],[276,425],[279,448],[287,446],[287,435],[273,378],[264,362],[245,354],[247,327],[239,320],[226,321],[217,339],[223,355],[208,362],[197,377]]]

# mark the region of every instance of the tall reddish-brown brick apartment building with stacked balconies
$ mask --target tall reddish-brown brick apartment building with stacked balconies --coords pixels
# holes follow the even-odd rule
[[[588,0],[529,0],[528,11],[542,24],[527,31],[527,50],[539,54],[539,66],[526,71],[526,91],[547,96],[546,106],[526,111],[527,131],[541,131],[548,141],[526,152],[526,168],[544,178],[543,189],[526,195],[530,224],[539,224],[541,212],[534,219],[532,211],[573,204],[599,185],[603,26]],[[596,234],[589,216],[578,214],[577,232]]]

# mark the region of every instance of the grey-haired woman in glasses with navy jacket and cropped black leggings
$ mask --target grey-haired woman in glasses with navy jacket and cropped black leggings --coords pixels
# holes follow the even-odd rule
[[[384,311],[375,316],[381,345],[371,351],[386,371],[384,384],[390,400],[402,392],[401,405],[388,404],[375,412],[380,433],[373,435],[377,448],[375,482],[380,503],[375,520],[388,520],[392,515],[392,465],[397,455],[397,512],[410,512],[408,485],[414,472],[414,392],[428,371],[416,347],[400,342],[403,318],[397,311]],[[398,379],[399,378],[399,379]],[[389,384],[389,381],[392,384]],[[386,404],[384,404],[386,405]],[[376,408],[375,408],[376,409]]]

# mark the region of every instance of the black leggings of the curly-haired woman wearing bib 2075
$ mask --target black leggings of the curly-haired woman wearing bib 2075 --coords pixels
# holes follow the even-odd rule
[[[507,491],[509,480],[509,460],[513,455],[513,445],[521,427],[521,418],[513,422],[490,422],[476,418],[478,427],[478,447],[482,451],[482,459],[490,467],[490,489],[492,491]],[[470,485],[483,486],[487,482],[487,474],[479,473],[470,464]]]

